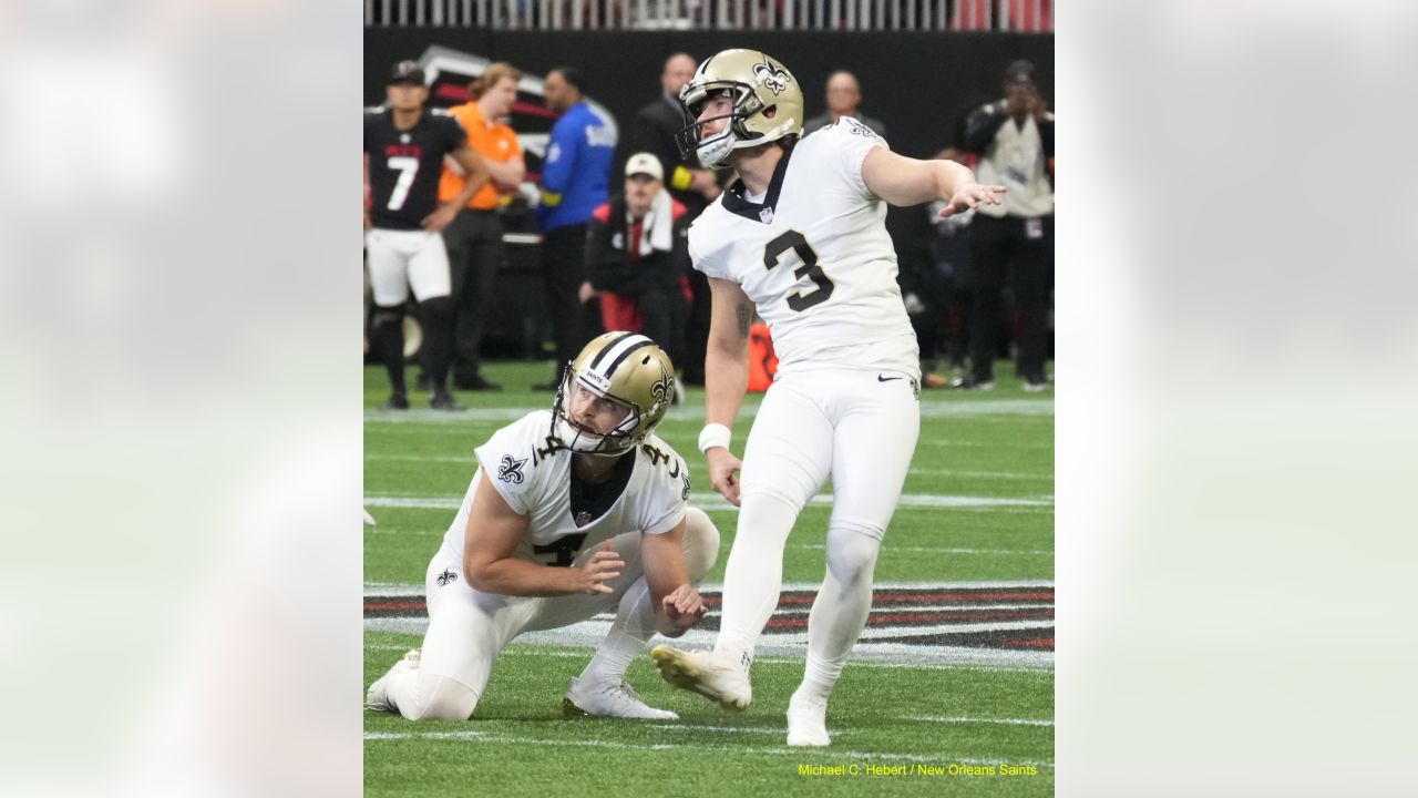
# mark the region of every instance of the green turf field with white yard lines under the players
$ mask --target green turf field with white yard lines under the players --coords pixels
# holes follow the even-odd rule
[[[878,595],[882,584],[899,582],[1052,584],[1052,392],[1025,393],[1004,376],[1010,371],[1000,364],[993,392],[922,393],[920,443],[878,561]],[[428,410],[428,396],[418,392],[410,412],[380,410],[383,369],[366,369],[364,497],[379,521],[364,527],[367,591],[423,591],[428,559],[475,469],[472,449],[522,412],[549,408],[552,393],[529,390],[549,372],[547,364],[489,364],[484,373],[506,390],[458,393],[469,412],[448,415]],[[695,450],[700,403],[702,390],[691,389],[688,405],[674,409],[658,433],[691,464],[691,501],[706,507],[723,534],[719,564],[706,579],[718,584],[737,514],[706,493]],[[756,405],[750,395],[735,429],[739,453]],[[821,581],[828,511],[814,504],[800,517],[784,558],[786,584]],[[418,635],[376,626],[367,623],[364,636],[364,686],[420,643]],[[824,750],[784,745],[783,710],[803,669],[791,646],[754,662],[754,703],[742,714],[672,690],[648,657],[638,660],[628,682],[649,704],[679,713],[678,723],[563,718],[567,679],[590,653],[549,639],[513,643],[468,723],[414,724],[366,713],[366,794],[1054,792],[1051,653],[1001,666],[910,653],[854,662],[834,693],[834,745]],[[845,772],[800,772],[811,765]]]

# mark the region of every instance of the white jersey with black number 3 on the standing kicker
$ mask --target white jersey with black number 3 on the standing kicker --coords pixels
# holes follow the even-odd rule
[[[689,229],[695,268],[737,283],[757,305],[780,372],[827,365],[920,376],[886,202],[862,180],[876,146],[886,142],[844,116],[783,155],[763,204],[739,183]]]

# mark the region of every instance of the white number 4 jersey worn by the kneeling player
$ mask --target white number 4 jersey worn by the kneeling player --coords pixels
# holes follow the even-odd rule
[[[529,518],[516,557],[542,565],[569,565],[577,552],[638,530],[651,535],[679,524],[689,501],[689,469],[659,436],[632,453],[635,466],[620,497],[598,518],[571,517],[571,452],[552,439],[552,412],[536,410],[508,425],[476,450],[478,470],[458,517],[444,534],[442,554],[462,561],[468,514],[482,474],[516,513]]]

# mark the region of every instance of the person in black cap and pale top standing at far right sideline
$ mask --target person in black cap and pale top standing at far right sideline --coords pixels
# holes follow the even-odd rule
[[[1008,186],[1003,204],[977,207],[970,224],[974,308],[970,327],[971,373],[959,388],[994,388],[994,346],[1000,293],[1012,270],[1014,298],[1024,329],[1018,373],[1025,390],[1044,390],[1048,378],[1048,291],[1054,264],[1054,114],[1034,82],[1034,64],[1004,71],[1004,99],[977,108],[966,121],[966,149],[980,155],[976,172],[986,183]]]

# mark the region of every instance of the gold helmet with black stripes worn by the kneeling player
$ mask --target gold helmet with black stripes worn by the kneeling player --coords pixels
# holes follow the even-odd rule
[[[605,434],[571,420],[576,386],[627,408],[625,419]],[[675,398],[675,366],[654,341],[638,332],[607,332],[566,364],[552,405],[552,436],[583,454],[624,454],[665,417]]]

